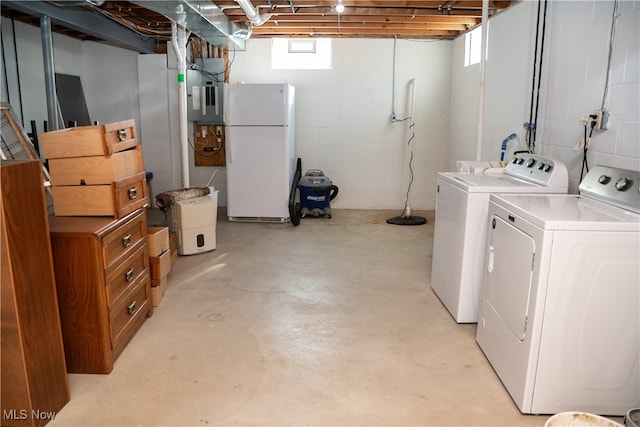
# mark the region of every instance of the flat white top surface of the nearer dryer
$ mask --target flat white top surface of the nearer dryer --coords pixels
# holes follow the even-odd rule
[[[640,215],[576,194],[491,194],[489,200],[546,230],[640,232]]]

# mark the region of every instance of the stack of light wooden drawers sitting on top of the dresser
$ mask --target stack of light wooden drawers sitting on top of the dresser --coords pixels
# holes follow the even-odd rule
[[[56,216],[122,218],[148,204],[134,120],[40,135]]]

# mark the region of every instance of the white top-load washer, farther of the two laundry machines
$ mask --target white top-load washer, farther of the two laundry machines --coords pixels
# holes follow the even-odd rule
[[[535,154],[482,174],[438,173],[431,288],[456,322],[478,320],[489,195],[566,194],[568,185],[562,162]]]

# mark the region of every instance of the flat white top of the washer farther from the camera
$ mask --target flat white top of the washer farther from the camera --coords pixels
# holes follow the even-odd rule
[[[567,187],[545,187],[504,173],[439,172],[438,178],[469,193],[566,193]]]

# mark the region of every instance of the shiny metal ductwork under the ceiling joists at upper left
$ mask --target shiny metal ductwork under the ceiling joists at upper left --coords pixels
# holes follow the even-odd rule
[[[131,3],[157,12],[182,28],[197,34],[216,46],[229,46],[244,50],[245,40],[251,35],[247,25],[238,25],[227,18],[224,12],[211,1],[198,0],[153,0]]]

